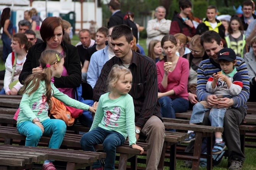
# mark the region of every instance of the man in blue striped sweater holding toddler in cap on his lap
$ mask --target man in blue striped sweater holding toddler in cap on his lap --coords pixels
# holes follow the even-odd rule
[[[246,101],[249,98],[249,76],[248,70],[245,64],[245,61],[237,57],[236,68],[237,71],[241,74],[243,80],[243,88],[241,93],[237,96],[232,96],[229,98],[222,98],[220,101],[217,101],[217,96],[212,95],[206,91],[206,83],[209,77],[212,74],[221,70],[219,62],[217,61],[217,54],[223,48],[223,43],[221,41],[220,35],[213,31],[207,31],[201,36],[201,45],[203,45],[209,59],[203,60],[198,67],[198,76],[197,76],[197,87],[196,95],[199,101],[207,101],[211,106],[217,106],[219,108],[223,107],[232,107],[227,109],[224,117],[224,132],[223,137],[224,141],[228,147],[228,169],[236,170],[241,169],[243,166],[243,161],[245,156],[241,151],[240,145],[240,135],[238,125],[242,123],[246,115]],[[209,111],[204,115],[204,120],[202,125],[208,125],[209,123]],[[192,151],[193,143],[191,143],[187,148],[186,152]]]

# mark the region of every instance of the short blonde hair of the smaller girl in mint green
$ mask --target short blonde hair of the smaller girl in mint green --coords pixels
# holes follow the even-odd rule
[[[113,85],[120,79],[120,77],[123,77],[124,79],[127,74],[131,74],[131,71],[126,69],[126,67],[119,66],[118,64],[113,65],[107,77],[108,91],[113,91]]]

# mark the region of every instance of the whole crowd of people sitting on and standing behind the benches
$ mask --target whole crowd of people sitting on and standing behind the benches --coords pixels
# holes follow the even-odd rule
[[[245,118],[246,101],[256,101],[254,4],[245,0],[243,15],[230,21],[216,19],[212,5],[206,19],[195,19],[191,7],[190,0],[179,0],[180,12],[171,20],[165,19],[164,6],[156,8],[146,27],[147,56],[138,44],[144,27],[134,22],[132,11],[122,13],[119,0],[109,2],[107,27],[95,33],[79,30],[76,46],[71,45],[68,21],[42,20],[32,8],[24,12],[15,34],[10,8],[5,8],[0,24],[6,69],[0,71],[0,94],[23,95],[15,119],[18,132],[26,136],[25,146],[37,146],[41,136],[51,135],[49,148],[60,148],[66,125],[78,119],[90,127],[81,137],[83,150],[95,151],[93,146],[102,143],[107,153],[105,164],[98,160],[93,170],[114,170],[116,147],[127,137],[142,154],[136,145],[140,135],[150,144],[146,169],[157,170],[165,130],[176,131],[165,129],[162,117],[175,118],[190,109],[191,124],[224,127],[223,133],[215,133],[212,154],[228,148],[228,169],[240,170],[245,155],[238,125]],[[52,111],[49,117],[58,101],[77,110],[69,118]],[[188,143],[186,152],[193,152],[195,133],[188,130],[189,137],[181,142]],[[43,170],[49,168],[55,169],[54,160],[44,161]]]

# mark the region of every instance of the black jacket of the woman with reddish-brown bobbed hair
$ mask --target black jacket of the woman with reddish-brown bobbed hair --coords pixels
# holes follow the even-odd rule
[[[54,85],[57,88],[76,88],[79,87],[82,81],[81,64],[77,48],[66,42],[62,42],[62,47],[66,55],[64,66],[68,72],[68,76],[61,76],[60,78],[54,77]],[[21,74],[19,75],[19,82],[23,81],[32,74],[32,69],[39,67],[39,58],[41,53],[45,50],[46,43],[36,43],[29,48],[26,56],[26,61],[23,65]]]

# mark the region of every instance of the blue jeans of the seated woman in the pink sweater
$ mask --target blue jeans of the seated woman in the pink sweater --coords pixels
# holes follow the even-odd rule
[[[175,118],[175,113],[186,112],[188,110],[189,102],[181,97],[169,98],[164,96],[158,99],[161,109],[162,117]]]

